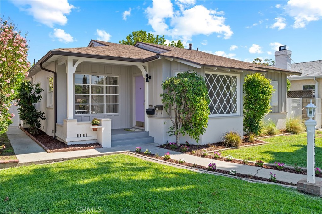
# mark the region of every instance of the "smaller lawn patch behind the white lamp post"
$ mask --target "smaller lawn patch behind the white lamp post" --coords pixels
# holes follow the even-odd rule
[[[306,133],[288,136],[264,138],[269,144],[243,147],[222,151],[222,156],[232,155],[234,158],[251,161],[262,160],[265,163],[283,162],[286,165],[307,165],[307,139]],[[322,167],[322,132],[316,132],[315,137],[315,163]]]

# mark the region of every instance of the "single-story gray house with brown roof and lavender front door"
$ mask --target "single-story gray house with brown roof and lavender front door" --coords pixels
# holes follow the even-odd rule
[[[50,50],[29,70],[40,82],[43,100],[37,104],[47,120],[41,129],[67,144],[99,142],[103,147],[130,142],[165,143],[171,126],[162,106],[161,84],[167,77],[190,70],[205,77],[211,99],[208,128],[199,143],[221,141],[226,131],[243,134],[244,77],[261,73],[276,89],[267,118],[286,118],[286,79],[300,75],[287,69],[261,66],[198,50],[137,42],[135,46],[91,40],[88,47]],[[100,119],[97,131],[90,127]],[[144,131],[124,134],[125,128]],[[183,141],[195,143],[189,136]]]

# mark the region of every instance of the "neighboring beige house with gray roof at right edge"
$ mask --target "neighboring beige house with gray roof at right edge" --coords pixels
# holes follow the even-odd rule
[[[322,60],[292,64],[291,70],[301,72],[302,75],[288,77],[290,91],[313,90],[315,98],[322,97]]]

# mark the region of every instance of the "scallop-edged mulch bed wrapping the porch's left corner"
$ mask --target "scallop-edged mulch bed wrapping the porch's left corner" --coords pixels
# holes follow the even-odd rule
[[[28,131],[28,129],[24,129]],[[29,133],[30,134],[30,133]],[[38,135],[32,135],[36,138],[44,147],[46,152],[65,152],[65,151],[75,151],[75,150],[85,150],[101,148],[99,143],[87,143],[87,144],[73,144],[67,145],[58,139],[53,139],[51,136],[47,135],[45,132],[39,130]]]

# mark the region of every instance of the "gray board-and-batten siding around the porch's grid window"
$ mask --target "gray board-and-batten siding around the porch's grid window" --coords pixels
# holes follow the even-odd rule
[[[109,114],[75,114],[75,106],[73,118],[81,121],[91,121],[93,118],[109,118],[112,119],[112,129],[122,129],[132,126],[132,68],[129,66],[105,65],[98,63],[81,63],[76,68],[75,74],[88,75],[105,75],[119,77],[119,112]],[[73,84],[74,80],[73,80]],[[75,96],[75,88],[73,88]]]

